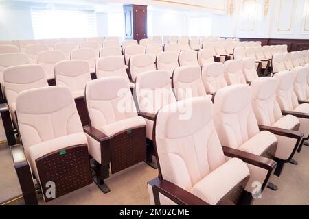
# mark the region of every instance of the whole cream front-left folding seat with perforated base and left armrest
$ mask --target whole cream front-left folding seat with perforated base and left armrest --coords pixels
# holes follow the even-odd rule
[[[38,205],[32,173],[47,202],[92,183],[87,137],[68,88],[25,90],[16,115],[23,145],[12,157],[26,205]]]

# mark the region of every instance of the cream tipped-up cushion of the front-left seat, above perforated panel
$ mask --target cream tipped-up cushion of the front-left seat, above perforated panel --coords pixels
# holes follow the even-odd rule
[[[48,153],[52,153],[54,151],[65,149],[69,146],[75,146],[79,144],[87,144],[87,138],[84,132],[78,132],[59,138],[53,138],[39,144],[34,144],[28,149],[25,149],[25,155],[30,162],[32,171],[36,175],[36,179],[39,179],[38,171],[36,169],[36,159],[43,157]]]

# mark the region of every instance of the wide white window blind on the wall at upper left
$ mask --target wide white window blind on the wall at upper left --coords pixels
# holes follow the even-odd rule
[[[94,11],[31,9],[34,38],[75,38],[97,35]]]

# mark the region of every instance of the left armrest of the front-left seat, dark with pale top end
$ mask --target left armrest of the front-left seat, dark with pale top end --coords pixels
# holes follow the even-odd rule
[[[25,204],[38,205],[30,165],[23,151],[23,146],[21,144],[12,146],[11,153],[14,168],[16,170],[17,177],[19,178],[19,185],[21,185],[21,192],[23,193]]]

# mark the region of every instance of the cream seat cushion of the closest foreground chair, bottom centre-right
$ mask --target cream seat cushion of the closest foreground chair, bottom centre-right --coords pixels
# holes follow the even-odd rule
[[[249,176],[242,160],[229,159],[193,186],[190,192],[211,205],[216,205],[231,189]]]

